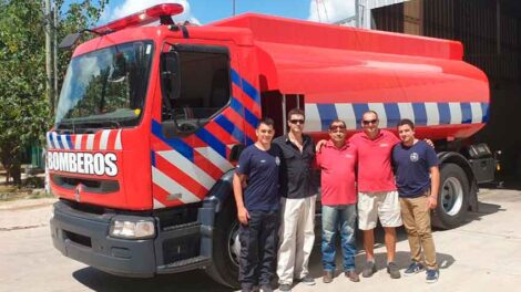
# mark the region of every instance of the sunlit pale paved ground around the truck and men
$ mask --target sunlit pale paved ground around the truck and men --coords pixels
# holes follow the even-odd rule
[[[521,191],[482,189],[480,211],[466,225],[436,231],[441,278],[426,284],[423,274],[391,280],[384,269],[385,249],[376,249],[379,271],[360,283],[339,275],[321,283],[320,257],[311,258],[316,286],[294,291],[514,291],[521,286]],[[228,291],[202,271],[154,279],[123,279],[62,257],[51,243],[52,199],[0,202],[0,291]],[[381,234],[377,241],[381,242]],[[399,232],[398,262],[408,264],[408,243]],[[357,255],[362,265],[364,254]],[[413,288],[412,288],[413,286]]]

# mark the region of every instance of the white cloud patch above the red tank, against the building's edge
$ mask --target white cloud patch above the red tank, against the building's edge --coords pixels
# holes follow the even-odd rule
[[[333,23],[355,15],[355,0],[310,0],[310,21]]]

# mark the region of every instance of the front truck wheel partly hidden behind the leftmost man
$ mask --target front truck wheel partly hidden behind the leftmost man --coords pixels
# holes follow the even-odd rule
[[[237,211],[234,201],[228,200],[215,218],[213,259],[206,273],[219,284],[239,289],[239,251]]]

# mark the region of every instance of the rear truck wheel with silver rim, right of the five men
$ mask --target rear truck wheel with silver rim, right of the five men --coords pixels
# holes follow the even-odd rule
[[[443,164],[440,167],[440,190],[438,207],[432,213],[432,226],[451,229],[461,225],[469,206],[469,179],[456,164]]]

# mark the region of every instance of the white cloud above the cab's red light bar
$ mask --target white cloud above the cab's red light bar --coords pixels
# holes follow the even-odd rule
[[[172,17],[172,19],[175,22],[184,22],[187,20],[191,23],[201,24],[201,22],[192,15],[188,0],[147,0],[147,1],[125,0],[121,6],[118,6],[114,8],[109,7],[105,10],[106,13],[104,13],[102,19],[104,20],[106,18],[106,21],[112,21],[115,19],[130,15],[135,12],[142,11],[146,8],[150,8],[156,4],[163,4],[163,3],[180,3],[183,6],[184,8],[183,13]]]

